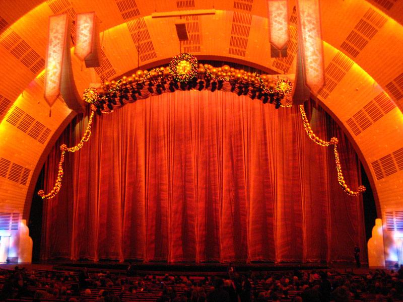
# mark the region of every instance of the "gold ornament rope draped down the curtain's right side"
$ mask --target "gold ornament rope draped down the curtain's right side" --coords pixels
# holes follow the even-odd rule
[[[304,110],[304,105],[299,105],[299,110],[301,112],[302,122],[304,123],[304,128],[305,128],[306,134],[308,134],[309,138],[320,146],[328,147],[329,145],[333,145],[334,162],[336,164],[336,169],[337,169],[337,179],[339,181],[340,186],[343,188],[343,190],[350,196],[357,196],[360,193],[365,192],[365,190],[366,190],[365,186],[361,185],[358,187],[357,191],[353,191],[348,187],[348,185],[346,184],[346,181],[344,180],[342,165],[340,164],[340,156],[339,156],[339,152],[337,149],[339,139],[337,137],[332,137],[330,139],[330,141],[325,141],[325,140],[322,140],[319,137],[317,137],[313,133],[312,128],[308,122],[308,118],[306,117],[306,113]]]

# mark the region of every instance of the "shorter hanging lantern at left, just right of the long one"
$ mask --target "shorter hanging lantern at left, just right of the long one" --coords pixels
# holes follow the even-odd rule
[[[95,12],[77,14],[74,54],[86,67],[99,66],[99,32]]]

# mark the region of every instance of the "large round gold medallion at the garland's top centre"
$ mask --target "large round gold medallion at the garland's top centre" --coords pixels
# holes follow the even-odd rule
[[[174,56],[169,63],[169,71],[178,82],[187,82],[197,76],[197,59],[189,53]]]

